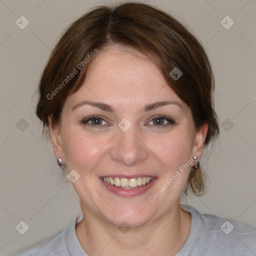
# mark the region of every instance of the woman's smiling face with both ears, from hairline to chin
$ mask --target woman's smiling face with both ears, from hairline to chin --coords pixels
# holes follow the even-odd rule
[[[55,156],[79,173],[72,185],[87,217],[156,221],[177,209],[206,129],[195,131],[188,106],[137,50],[111,46],[91,61],[50,125]]]

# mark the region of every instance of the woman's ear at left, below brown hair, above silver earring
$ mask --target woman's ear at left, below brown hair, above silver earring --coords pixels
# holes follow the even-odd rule
[[[49,122],[50,140],[51,140],[54,155],[56,158],[60,157],[62,159],[62,162],[65,163],[65,156],[62,148],[59,125],[52,123],[52,115],[48,116],[48,122]]]

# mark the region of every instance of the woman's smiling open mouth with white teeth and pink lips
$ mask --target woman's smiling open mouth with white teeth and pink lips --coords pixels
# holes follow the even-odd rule
[[[157,177],[144,175],[137,177],[101,176],[99,179],[108,191],[118,196],[130,197],[145,193],[157,180]]]

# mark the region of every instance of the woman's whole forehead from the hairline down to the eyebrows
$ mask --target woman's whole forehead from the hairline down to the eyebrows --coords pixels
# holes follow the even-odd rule
[[[116,107],[141,107],[153,101],[175,100],[187,108],[155,64],[136,49],[113,45],[99,50],[90,61],[82,86],[69,96],[70,105],[96,100]]]

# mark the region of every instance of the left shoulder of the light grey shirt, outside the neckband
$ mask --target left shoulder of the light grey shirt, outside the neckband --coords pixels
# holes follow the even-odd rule
[[[35,243],[34,245],[30,247],[26,247],[23,249],[20,249],[18,251],[13,252],[9,256],[32,256],[32,255],[41,255],[41,256],[55,256],[59,255],[56,251],[58,248],[61,248],[61,255],[69,255],[67,247],[66,247],[66,230],[63,229],[59,231],[58,233]]]

